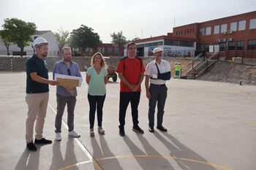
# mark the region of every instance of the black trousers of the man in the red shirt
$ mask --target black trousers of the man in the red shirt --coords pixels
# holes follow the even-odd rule
[[[125,115],[127,113],[127,107],[129,102],[131,102],[131,107],[132,107],[132,123],[134,126],[137,126],[139,124],[138,105],[140,103],[140,92],[120,92],[119,128],[124,128]]]

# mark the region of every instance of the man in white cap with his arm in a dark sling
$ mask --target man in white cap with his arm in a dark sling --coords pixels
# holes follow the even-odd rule
[[[146,97],[149,99],[148,104],[148,131],[154,133],[154,112],[157,105],[157,129],[167,131],[162,126],[165,100],[167,98],[166,80],[170,80],[170,63],[162,60],[162,49],[156,47],[153,50],[155,60],[146,66]],[[150,85],[149,84],[150,80]]]

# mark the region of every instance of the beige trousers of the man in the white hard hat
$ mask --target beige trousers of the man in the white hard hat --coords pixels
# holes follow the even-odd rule
[[[26,119],[26,142],[33,142],[34,121],[36,123],[36,139],[42,139],[42,128],[45,123],[45,115],[48,106],[49,93],[26,94],[28,104],[28,117]]]

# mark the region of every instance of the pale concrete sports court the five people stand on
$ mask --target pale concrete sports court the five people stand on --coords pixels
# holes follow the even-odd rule
[[[83,72],[83,77],[85,77]],[[52,74],[50,73],[50,77]],[[222,82],[170,80],[165,107],[167,133],[148,132],[145,88],[139,105],[140,127],[132,131],[127,109],[126,136],[118,135],[118,82],[109,82],[103,112],[105,136],[89,136],[87,85],[78,88],[75,131],[54,142],[56,87],[50,86],[44,136],[53,144],[26,150],[26,73],[0,73],[0,169],[109,169],[109,170],[255,170],[256,87]],[[65,111],[63,121],[67,122]],[[97,119],[96,119],[97,120]],[[97,123],[96,123],[97,125]],[[97,127],[97,126],[96,126]]]

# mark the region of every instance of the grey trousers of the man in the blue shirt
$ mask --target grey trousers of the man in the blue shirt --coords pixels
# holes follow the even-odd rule
[[[61,132],[61,120],[64,113],[64,109],[67,104],[67,125],[69,127],[69,131],[74,130],[74,110],[75,110],[75,103],[76,97],[65,97],[60,96],[57,94],[57,114],[55,117],[55,132]]]

